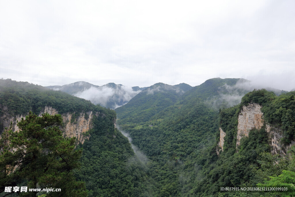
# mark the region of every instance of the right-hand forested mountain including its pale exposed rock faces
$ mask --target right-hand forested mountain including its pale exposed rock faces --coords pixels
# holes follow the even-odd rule
[[[294,195],[295,188],[292,185],[295,183],[295,160],[294,147],[291,146],[295,139],[294,96],[295,92],[276,96],[265,89],[253,90],[242,98],[240,105],[221,110],[219,126],[225,131],[225,136],[220,136],[220,139],[224,138],[223,151],[211,165],[212,170],[208,173],[207,180],[202,181],[204,184],[199,191],[217,192],[218,187],[223,185],[228,187],[260,185],[285,187],[288,191],[250,192],[247,196]],[[253,109],[253,106],[258,108]],[[254,117],[251,117],[251,114]],[[262,117],[259,117],[259,114]],[[244,129],[245,133],[240,136],[245,117],[253,118],[251,121],[254,125]],[[251,121],[248,122],[248,126]],[[279,154],[276,154],[277,151]],[[239,194],[240,192],[236,192],[232,195],[239,196]]]

